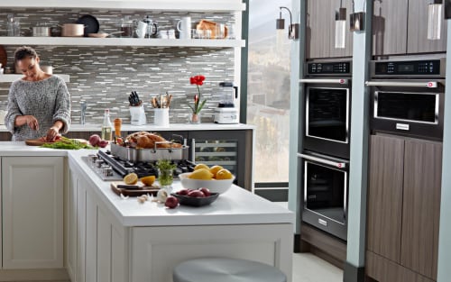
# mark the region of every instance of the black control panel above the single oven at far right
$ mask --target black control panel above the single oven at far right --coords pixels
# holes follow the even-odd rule
[[[445,60],[376,60],[371,71],[372,77],[444,77]]]

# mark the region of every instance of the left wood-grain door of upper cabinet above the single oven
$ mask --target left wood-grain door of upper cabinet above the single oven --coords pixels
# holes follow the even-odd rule
[[[373,1],[373,55],[406,53],[408,4],[409,0]]]

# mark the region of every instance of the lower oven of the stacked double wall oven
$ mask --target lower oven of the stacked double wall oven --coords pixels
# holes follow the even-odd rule
[[[298,156],[303,168],[302,220],[346,241],[348,160],[312,151]]]

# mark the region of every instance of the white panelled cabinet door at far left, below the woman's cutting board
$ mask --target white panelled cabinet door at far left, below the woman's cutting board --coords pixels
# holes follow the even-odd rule
[[[4,268],[62,268],[63,158],[2,162]]]

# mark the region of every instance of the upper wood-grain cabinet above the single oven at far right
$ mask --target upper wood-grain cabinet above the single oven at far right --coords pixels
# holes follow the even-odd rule
[[[443,14],[440,40],[428,40],[428,5],[431,2],[373,1],[373,55],[446,52]]]

